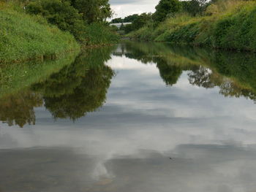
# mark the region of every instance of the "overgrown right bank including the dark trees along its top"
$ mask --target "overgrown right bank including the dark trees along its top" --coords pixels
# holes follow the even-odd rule
[[[140,28],[124,31],[132,39],[256,51],[255,12],[254,0],[161,0]]]

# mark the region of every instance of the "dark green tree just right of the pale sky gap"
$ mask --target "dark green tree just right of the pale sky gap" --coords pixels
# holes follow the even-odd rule
[[[181,2],[178,0],[160,0],[157,4],[156,12],[153,14],[155,23],[165,20],[167,15],[176,13],[181,10]]]

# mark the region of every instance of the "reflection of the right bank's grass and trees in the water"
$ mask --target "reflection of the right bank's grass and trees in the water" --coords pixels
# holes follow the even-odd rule
[[[224,96],[244,96],[256,101],[255,55],[138,42],[129,42],[124,47],[123,54],[128,58],[135,58],[143,64],[157,64],[166,85],[175,85],[182,72],[189,71],[192,85],[203,88],[218,86],[219,93]]]

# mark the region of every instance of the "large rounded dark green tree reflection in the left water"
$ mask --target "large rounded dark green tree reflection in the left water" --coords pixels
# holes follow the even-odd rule
[[[102,107],[114,72],[104,64],[109,52],[100,53],[105,50],[80,55],[71,66],[33,85],[34,91],[42,93],[45,107],[54,118],[75,120]]]

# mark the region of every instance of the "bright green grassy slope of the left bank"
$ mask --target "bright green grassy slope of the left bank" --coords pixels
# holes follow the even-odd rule
[[[26,15],[10,4],[0,5],[0,63],[56,58],[78,50],[75,38],[39,16]]]

